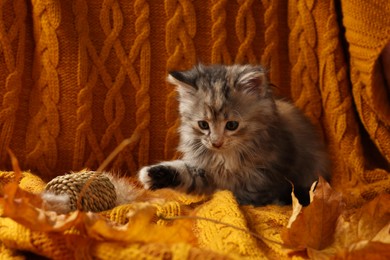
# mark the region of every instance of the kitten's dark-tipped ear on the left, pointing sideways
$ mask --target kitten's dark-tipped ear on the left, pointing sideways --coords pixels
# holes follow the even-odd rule
[[[167,81],[176,86],[181,96],[192,95],[196,91],[195,75],[189,71],[171,71]]]

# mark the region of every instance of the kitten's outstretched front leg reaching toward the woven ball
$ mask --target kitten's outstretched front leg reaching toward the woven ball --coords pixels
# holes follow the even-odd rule
[[[172,188],[187,193],[205,194],[214,191],[210,176],[203,169],[176,160],[143,167],[139,180],[145,189]]]

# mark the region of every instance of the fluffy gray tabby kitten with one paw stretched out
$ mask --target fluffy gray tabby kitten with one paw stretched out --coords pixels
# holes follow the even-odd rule
[[[313,126],[289,102],[275,99],[261,66],[197,65],[174,71],[181,116],[181,160],[140,170],[146,189],[234,193],[240,204],[309,203],[328,161]]]

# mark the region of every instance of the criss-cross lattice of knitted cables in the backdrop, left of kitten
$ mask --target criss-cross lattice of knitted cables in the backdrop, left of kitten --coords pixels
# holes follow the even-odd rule
[[[126,163],[127,168],[131,172],[137,170],[138,165],[135,163],[131,152],[133,152],[138,146],[137,153],[138,159],[142,164],[146,164],[148,160],[148,147],[149,147],[149,103],[150,98],[148,94],[150,80],[147,77],[150,73],[150,43],[149,43],[149,6],[146,1],[136,1],[134,3],[135,11],[135,32],[137,37],[134,39],[133,46],[131,47],[129,54],[126,54],[126,50],[120,43],[118,37],[123,27],[123,14],[121,13],[118,2],[108,1],[104,3],[107,5],[107,9],[102,10],[100,15],[100,24],[106,35],[104,46],[102,47],[100,55],[97,53],[96,48],[93,46],[91,39],[88,36],[89,28],[86,20],[87,5],[83,1],[78,1],[75,4],[74,12],[77,17],[78,23],[76,24],[79,32],[80,47],[83,51],[80,58],[85,60],[80,63],[85,67],[79,68],[79,80],[80,85],[84,86],[79,92],[78,96],[78,118],[79,126],[76,134],[76,138],[80,140],[76,142],[74,167],[81,167],[83,162],[82,158],[85,153],[85,143],[88,140],[89,146],[92,149],[92,153],[87,161],[88,166],[96,165],[96,161],[102,163],[107,154],[103,151],[107,150],[112,139],[116,140],[118,145],[125,137],[120,129],[125,117],[125,101],[122,96],[121,89],[124,87],[126,77],[129,78],[131,86],[135,89],[135,122],[132,125],[136,125],[134,132],[131,134],[132,143],[114,162],[114,168],[121,168],[123,163]],[[112,13],[108,12],[112,10]],[[110,16],[115,17],[112,27],[110,27]],[[110,76],[107,68],[104,66],[105,62],[109,62],[108,59],[111,52],[115,52],[122,67],[119,69],[117,75],[115,75],[115,81]],[[93,68],[88,75],[88,57],[92,58]],[[140,60],[139,72],[134,62]],[[105,101],[104,101],[104,116],[108,126],[103,134],[101,141],[98,142],[96,134],[91,127],[91,120],[93,114],[91,109],[93,106],[93,89],[97,84],[99,75],[104,80],[105,86],[108,89]],[[81,158],[81,159],[80,159]]]

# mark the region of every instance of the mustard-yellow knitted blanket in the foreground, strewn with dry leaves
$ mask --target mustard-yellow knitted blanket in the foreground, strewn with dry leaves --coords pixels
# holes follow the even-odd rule
[[[390,194],[347,209],[323,179],[305,208],[296,199],[292,208],[239,206],[228,191],[198,197],[134,188],[131,203],[66,215],[43,209],[37,176],[16,170],[0,172],[0,180],[7,183],[1,259],[28,259],[21,250],[52,259],[390,257]]]

